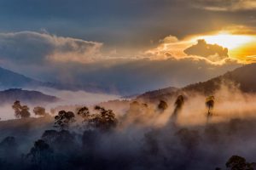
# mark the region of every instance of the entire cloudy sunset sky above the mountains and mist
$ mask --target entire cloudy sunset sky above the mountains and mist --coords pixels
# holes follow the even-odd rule
[[[256,59],[253,0],[0,0],[0,66],[137,94]]]

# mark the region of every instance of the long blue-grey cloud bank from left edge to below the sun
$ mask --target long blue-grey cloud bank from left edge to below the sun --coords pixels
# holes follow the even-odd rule
[[[183,49],[188,44],[192,45],[169,36],[151,54],[106,59],[102,58],[100,42],[22,31],[0,34],[0,59],[5,68],[42,82],[127,95],[205,81],[238,66],[231,62],[215,65],[202,57],[184,57]],[[177,58],[176,52],[183,57]],[[152,59],[162,54],[166,58]]]

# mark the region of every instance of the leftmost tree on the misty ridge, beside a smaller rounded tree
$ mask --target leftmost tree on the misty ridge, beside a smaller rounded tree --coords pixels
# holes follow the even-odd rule
[[[12,107],[15,110],[15,116],[17,118],[26,118],[30,116],[29,107],[27,105],[20,105],[19,100],[16,100]]]

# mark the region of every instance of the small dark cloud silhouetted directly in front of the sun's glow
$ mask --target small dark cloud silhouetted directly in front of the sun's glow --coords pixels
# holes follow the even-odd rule
[[[188,55],[198,55],[213,62],[229,57],[228,48],[223,48],[218,44],[208,44],[204,39],[197,40],[197,44],[184,49]]]

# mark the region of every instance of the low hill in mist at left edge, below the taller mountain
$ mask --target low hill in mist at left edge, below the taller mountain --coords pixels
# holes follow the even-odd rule
[[[22,90],[21,88],[10,88],[0,91],[0,105],[14,103],[15,100],[29,104],[46,104],[58,101],[59,99],[38,91]]]

